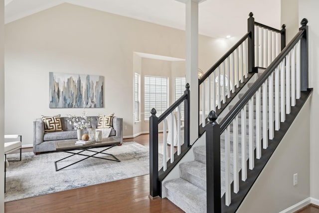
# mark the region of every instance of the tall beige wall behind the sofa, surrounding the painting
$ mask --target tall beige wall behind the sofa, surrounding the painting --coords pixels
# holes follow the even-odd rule
[[[233,43],[199,40],[203,70]],[[124,136],[132,136],[134,52],[184,58],[185,32],[67,3],[5,24],[5,133],[32,144],[35,118],[81,114],[48,106],[48,73],[62,72],[103,75],[104,108],[88,115],[114,112],[128,126]]]

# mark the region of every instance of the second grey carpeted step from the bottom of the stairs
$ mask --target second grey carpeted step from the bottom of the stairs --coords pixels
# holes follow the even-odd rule
[[[179,165],[180,178],[206,191],[206,164],[188,161]]]

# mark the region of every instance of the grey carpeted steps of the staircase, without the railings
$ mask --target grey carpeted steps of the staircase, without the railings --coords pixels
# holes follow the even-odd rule
[[[256,74],[257,75],[257,74]],[[259,73],[258,76],[261,74]],[[248,88],[252,83],[248,83]],[[244,93],[239,93],[239,98],[242,98]],[[233,105],[228,106],[229,110]],[[268,105],[267,105],[268,109]],[[254,105],[254,112],[256,106]],[[262,111],[261,111],[262,112]],[[267,110],[268,112],[268,110]],[[255,113],[254,113],[255,114]],[[238,165],[241,165],[241,114],[238,115]],[[246,121],[248,120],[248,108],[246,109]],[[249,125],[246,123],[245,136],[248,137]],[[256,117],[253,122],[256,129]],[[256,132],[256,131],[254,131]],[[254,135],[256,141],[256,135]],[[225,193],[225,134],[220,136],[220,167],[221,167],[221,196]],[[256,144],[254,145],[256,147]],[[230,151],[233,151],[233,127],[230,128]],[[248,144],[246,145],[246,161],[248,160]],[[206,146],[195,146],[193,148],[194,161],[189,161],[179,164],[180,178],[166,181],[163,183],[164,193],[166,198],[173,202],[176,206],[186,213],[204,213],[206,212]],[[230,174],[231,182],[233,181],[233,153],[230,155]],[[241,166],[237,166],[239,172]]]

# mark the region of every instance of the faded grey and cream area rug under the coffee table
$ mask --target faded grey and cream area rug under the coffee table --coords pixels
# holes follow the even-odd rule
[[[103,148],[96,148],[100,151]],[[9,162],[6,172],[4,201],[14,201],[95,184],[107,183],[149,174],[149,149],[136,142],[126,142],[106,151],[121,162],[89,158],[60,171],[54,161],[70,154],[53,152],[34,155],[22,153],[22,161]],[[102,157],[100,154],[97,155]],[[18,154],[8,155],[8,160]],[[83,156],[73,156],[58,164],[70,164]],[[111,158],[111,157],[109,157]],[[162,156],[159,154],[161,162]]]

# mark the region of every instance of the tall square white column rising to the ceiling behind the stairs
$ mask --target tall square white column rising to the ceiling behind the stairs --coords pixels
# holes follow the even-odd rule
[[[185,3],[186,9],[186,83],[190,90],[190,144],[198,138],[198,3],[204,0],[177,0]]]

